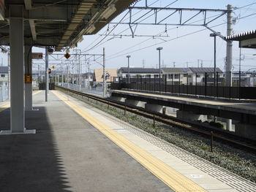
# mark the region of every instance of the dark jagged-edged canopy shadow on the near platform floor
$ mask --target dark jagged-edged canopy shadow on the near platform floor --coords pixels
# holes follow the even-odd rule
[[[26,128],[37,134],[0,136],[0,191],[70,190],[45,107],[26,112]],[[10,128],[10,110],[0,113],[0,130]]]

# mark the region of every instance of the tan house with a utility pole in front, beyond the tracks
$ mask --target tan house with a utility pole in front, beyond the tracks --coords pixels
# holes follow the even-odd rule
[[[111,82],[117,77],[117,69],[105,69],[106,82]],[[94,69],[94,85],[102,85],[103,69]]]

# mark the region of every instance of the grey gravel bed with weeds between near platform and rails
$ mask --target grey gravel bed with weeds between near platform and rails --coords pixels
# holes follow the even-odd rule
[[[86,98],[82,99],[80,96],[75,96],[75,94],[72,94],[72,96],[256,183],[256,154],[254,153],[215,141],[214,150],[211,152],[209,150],[210,139],[159,122],[155,123],[154,128],[153,120],[151,119],[135,115],[131,112],[126,112],[126,115],[124,115],[124,110],[111,106],[108,107],[108,104],[102,104],[99,101],[96,104],[96,101],[93,99],[88,101]]]

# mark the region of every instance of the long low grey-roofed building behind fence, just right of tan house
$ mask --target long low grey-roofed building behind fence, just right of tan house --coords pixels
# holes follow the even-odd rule
[[[118,69],[118,77],[159,77],[159,69],[143,68],[143,67],[121,67]]]

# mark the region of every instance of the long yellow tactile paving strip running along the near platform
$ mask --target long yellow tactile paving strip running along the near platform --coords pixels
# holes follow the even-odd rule
[[[152,174],[157,176],[162,182],[168,185],[173,191],[205,191],[196,183],[189,180],[187,177],[184,177],[182,174],[177,172],[175,169],[172,169],[167,164],[160,161],[158,158],[154,157],[150,153],[146,152],[138,145],[135,145],[133,142],[130,142],[125,137],[118,134],[113,129],[105,125],[105,123],[100,122],[92,115],[89,115],[88,112],[85,112],[74,104],[72,101],[68,101],[67,97],[61,95],[60,93],[53,92],[59,99],[64,101],[72,110],[78,113],[81,117],[91,123],[92,126],[97,128],[102,134],[105,134],[110,140],[112,140],[116,145],[121,147],[126,153],[135,158],[140,164],[146,167]]]

